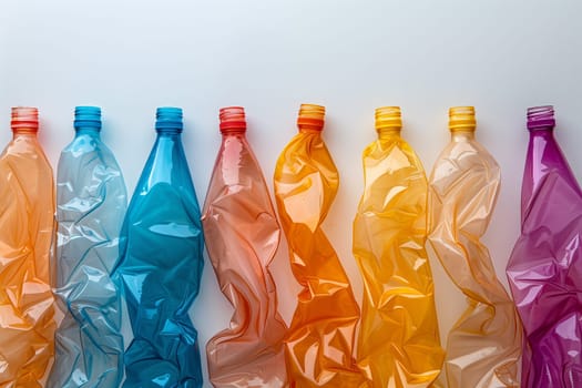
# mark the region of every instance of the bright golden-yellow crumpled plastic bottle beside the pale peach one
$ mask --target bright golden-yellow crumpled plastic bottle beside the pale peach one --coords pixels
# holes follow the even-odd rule
[[[357,359],[378,388],[428,387],[443,358],[425,249],[427,177],[401,126],[400,108],[376,110],[378,140],[363,154],[365,188],[354,221],[365,287]]]

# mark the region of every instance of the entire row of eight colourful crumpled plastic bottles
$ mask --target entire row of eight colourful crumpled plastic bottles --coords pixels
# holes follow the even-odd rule
[[[339,187],[321,136],[325,108],[299,110],[299,131],[275,167],[276,206],[244,110],[222,109],[219,119],[202,210],[177,108],[157,110],[157,137],[127,206],[120,166],[100,139],[99,108],[75,109],[57,190],[37,140],[38,111],[13,109],[14,136],[0,155],[0,387],[40,387],[53,354],[49,387],[201,387],[188,309],[204,243],[234,307],[229,326],[206,345],[215,387],[582,384],[582,191],[553,137],[551,106],[528,112],[521,236],[507,268],[514,303],[480,241],[500,169],[474,139],[473,108],[449,111],[451,142],[429,177],[400,136],[400,109],[376,110],[378,139],[363,154],[354,219],[361,312],[321,228]],[[289,327],[269,272],[282,232],[302,287]],[[467,297],[445,349],[427,241]],[[54,302],[64,315],[59,328]]]

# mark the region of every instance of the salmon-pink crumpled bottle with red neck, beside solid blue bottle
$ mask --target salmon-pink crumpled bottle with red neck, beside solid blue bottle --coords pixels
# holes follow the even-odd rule
[[[221,110],[221,132],[202,223],[221,289],[235,310],[229,328],[206,346],[210,377],[215,387],[284,387],[287,327],[268,269],[280,229],[245,136],[243,108]]]

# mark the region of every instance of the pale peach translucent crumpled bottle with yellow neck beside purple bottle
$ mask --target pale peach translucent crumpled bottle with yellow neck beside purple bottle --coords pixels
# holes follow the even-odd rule
[[[474,140],[474,109],[449,111],[451,142],[429,180],[429,241],[468,307],[448,336],[445,372],[453,387],[517,387],[521,327],[480,242],[496,206],[500,171]]]

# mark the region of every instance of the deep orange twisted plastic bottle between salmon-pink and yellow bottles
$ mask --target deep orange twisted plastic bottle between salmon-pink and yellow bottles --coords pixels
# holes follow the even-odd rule
[[[359,387],[353,358],[359,307],[320,225],[339,185],[321,139],[325,108],[303,104],[299,133],[275,167],[275,196],[292,270],[303,287],[285,339],[292,387]]]

